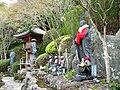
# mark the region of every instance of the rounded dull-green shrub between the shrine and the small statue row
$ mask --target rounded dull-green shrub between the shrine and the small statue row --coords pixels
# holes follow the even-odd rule
[[[38,58],[35,61],[35,64],[37,67],[41,66],[45,66],[48,62],[48,54],[44,53],[38,56]]]

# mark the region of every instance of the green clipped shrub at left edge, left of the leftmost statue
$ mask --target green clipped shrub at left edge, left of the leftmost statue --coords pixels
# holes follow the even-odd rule
[[[10,60],[0,60],[0,72],[6,72],[8,70],[8,66],[10,65]]]

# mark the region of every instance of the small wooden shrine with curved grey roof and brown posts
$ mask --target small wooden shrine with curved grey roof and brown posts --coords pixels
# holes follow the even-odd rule
[[[36,43],[36,49],[38,45],[42,42],[42,37],[46,32],[41,30],[40,28],[33,28],[26,32],[14,35],[14,37],[22,39],[24,44],[24,49],[26,51],[26,61],[24,64],[31,64],[31,59],[33,58],[33,53],[31,51],[32,40]]]

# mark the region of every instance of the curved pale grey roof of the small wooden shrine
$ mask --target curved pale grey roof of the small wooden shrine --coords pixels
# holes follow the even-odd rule
[[[13,35],[14,37],[22,37],[22,36],[25,36],[29,33],[35,33],[35,34],[45,34],[46,32],[40,28],[34,28],[32,30],[28,30],[26,32],[23,32],[23,33],[20,33],[20,34],[16,34],[16,35]]]

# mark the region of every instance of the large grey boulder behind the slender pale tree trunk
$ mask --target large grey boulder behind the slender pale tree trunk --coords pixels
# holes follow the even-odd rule
[[[103,47],[98,37],[94,41],[93,47],[93,63],[98,65],[98,75],[105,77],[106,69],[103,59]],[[116,36],[107,36],[107,47],[110,55],[111,77],[113,80],[120,81],[120,38]]]

